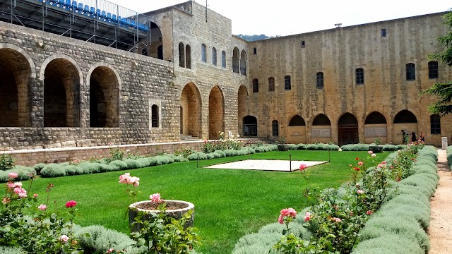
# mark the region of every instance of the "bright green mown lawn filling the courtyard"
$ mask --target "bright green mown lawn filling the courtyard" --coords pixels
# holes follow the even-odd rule
[[[296,150],[266,152],[251,155],[251,159],[328,160],[327,151]],[[388,155],[378,156],[383,160]],[[339,186],[350,179],[350,164],[356,157],[367,157],[367,152],[331,152],[331,162],[310,167],[313,187]],[[68,200],[76,200],[76,224],[101,224],[110,229],[128,233],[127,207],[131,203],[124,192],[126,186],[118,183],[119,175],[130,172],[140,180],[136,200],[148,200],[160,193],[162,198],[186,200],[195,204],[195,226],[199,229],[202,253],[231,253],[237,240],[261,226],[276,222],[281,209],[307,206],[302,191],[307,187],[299,171],[251,171],[235,169],[202,169],[201,167],[248,159],[248,156],[225,157],[199,161],[177,162],[156,167],[114,171],[102,174],[66,176],[55,179],[37,179],[32,193],[39,194],[38,204],[45,202],[45,188],[54,184],[50,192],[49,208],[54,200],[64,210]],[[28,188],[27,183],[24,187]],[[134,201],[134,200],[133,200]]]

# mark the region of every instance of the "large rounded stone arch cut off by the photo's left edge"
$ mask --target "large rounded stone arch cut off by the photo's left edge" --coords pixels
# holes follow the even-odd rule
[[[31,57],[13,44],[0,44],[0,127],[30,126],[30,78],[36,78]]]

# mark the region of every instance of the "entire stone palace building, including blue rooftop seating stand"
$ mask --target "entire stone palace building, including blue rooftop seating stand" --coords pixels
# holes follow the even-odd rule
[[[452,80],[444,13],[246,42],[187,1],[0,0],[0,150],[216,139],[426,143],[452,134],[418,94]]]

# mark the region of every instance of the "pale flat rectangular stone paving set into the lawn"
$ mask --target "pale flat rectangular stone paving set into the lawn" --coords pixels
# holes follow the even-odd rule
[[[239,162],[229,162],[208,166],[208,169],[250,169],[264,171],[296,171],[299,165],[307,164],[308,167],[323,164],[326,162],[316,161],[288,161],[278,159],[246,159]]]

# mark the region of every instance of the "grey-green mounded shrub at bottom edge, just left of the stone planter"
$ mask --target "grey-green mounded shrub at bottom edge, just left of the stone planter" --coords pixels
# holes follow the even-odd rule
[[[133,248],[132,245],[136,242],[126,234],[100,225],[85,226],[74,232],[74,235],[85,253],[105,253],[109,248],[131,254],[143,253],[145,250],[144,246]]]

